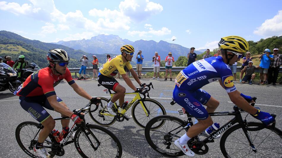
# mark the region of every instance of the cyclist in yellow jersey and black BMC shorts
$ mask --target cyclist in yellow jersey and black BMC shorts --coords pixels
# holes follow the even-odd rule
[[[136,72],[132,69],[132,66],[130,64],[130,61],[132,60],[134,54],[134,48],[131,45],[124,45],[121,47],[121,55],[117,55],[111,58],[111,60],[108,60],[105,64],[103,64],[99,69],[98,74],[98,82],[104,86],[105,88],[108,88],[110,90],[115,91],[115,95],[112,97],[112,99],[107,104],[107,110],[112,115],[117,115],[113,110],[113,104],[115,101],[119,99],[120,106],[124,103],[124,96],[126,89],[121,86],[117,80],[115,80],[114,76],[119,72],[125,81],[125,83],[132,88],[135,92],[139,92],[140,89],[136,88],[132,81],[129,79],[129,77],[126,75],[126,72],[124,71],[124,66],[126,66],[129,71],[131,72],[133,78],[136,80],[136,82],[143,86],[145,83],[141,84],[138,75]],[[124,114],[126,118],[132,118],[128,114]]]

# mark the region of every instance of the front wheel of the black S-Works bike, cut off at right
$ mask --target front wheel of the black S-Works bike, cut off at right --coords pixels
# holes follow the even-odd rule
[[[229,158],[230,157],[256,157],[256,158],[258,157],[282,157],[282,132],[281,130],[279,130],[278,128],[272,129],[269,126],[261,129],[262,126],[263,124],[259,122],[248,122],[248,126],[247,126],[248,133],[251,136],[253,144],[257,150],[256,153],[252,151],[252,148],[249,145],[249,142],[240,124],[234,125],[231,128],[229,128],[228,130],[226,130],[226,132],[224,132],[220,140],[220,149],[221,149],[223,156],[229,157]],[[261,133],[262,136],[258,136],[259,133]],[[267,141],[266,143],[264,143],[264,140],[266,140],[268,136],[274,137],[275,139],[270,138],[271,139],[270,141]],[[235,141],[232,141],[232,138],[235,139]],[[230,145],[229,145],[229,142],[230,142]],[[229,146],[232,146],[232,148],[229,149]],[[240,148],[234,149],[236,148],[236,146],[238,147],[240,146]],[[263,149],[263,147],[266,147],[267,149]]]

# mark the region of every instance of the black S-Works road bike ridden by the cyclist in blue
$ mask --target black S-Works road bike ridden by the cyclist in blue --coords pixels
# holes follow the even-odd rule
[[[170,104],[175,104],[172,101]],[[253,105],[254,106],[254,105]],[[256,107],[260,109],[259,107]],[[235,116],[210,136],[200,133],[188,141],[189,148],[195,154],[203,155],[209,150],[207,143],[214,142],[214,138],[223,133],[220,140],[220,149],[224,157],[282,157],[282,131],[275,128],[275,122],[271,126],[265,126],[261,122],[248,122],[243,120],[241,113],[245,111],[237,106],[232,112],[213,112],[210,116]],[[180,138],[193,125],[192,115],[187,114],[187,120],[178,117],[161,115],[151,119],[145,128],[145,137],[150,146],[157,152],[169,156],[178,157],[184,153],[175,146],[174,141]],[[276,115],[273,115],[276,117]],[[164,124],[154,129],[159,122]],[[237,124],[236,124],[237,123]],[[236,125],[235,125],[236,124]],[[154,129],[154,130],[152,130]]]

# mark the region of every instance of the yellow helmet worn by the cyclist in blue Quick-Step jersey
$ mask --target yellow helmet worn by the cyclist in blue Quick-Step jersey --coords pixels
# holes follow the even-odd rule
[[[238,53],[245,53],[249,50],[249,43],[240,36],[227,36],[221,38],[218,43],[221,49],[229,49]]]

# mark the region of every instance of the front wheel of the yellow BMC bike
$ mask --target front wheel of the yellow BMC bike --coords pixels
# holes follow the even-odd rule
[[[137,101],[132,106],[132,118],[137,125],[142,128],[145,128],[146,124],[153,118],[159,115],[166,115],[166,111],[164,107],[156,100],[146,98],[142,101],[143,105],[147,107],[150,112],[149,116],[145,115],[143,108],[141,107],[140,101]],[[140,105],[139,105],[140,104]],[[142,121],[141,119],[144,118]],[[141,121],[140,121],[141,120]],[[164,121],[160,122],[160,124],[153,129],[160,128],[164,124]]]

